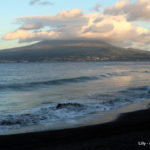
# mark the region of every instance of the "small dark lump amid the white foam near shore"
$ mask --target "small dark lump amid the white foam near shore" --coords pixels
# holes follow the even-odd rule
[[[68,108],[68,107],[79,108],[79,107],[83,107],[83,105],[79,103],[60,103],[60,104],[57,104],[56,109],[62,109],[62,108]]]

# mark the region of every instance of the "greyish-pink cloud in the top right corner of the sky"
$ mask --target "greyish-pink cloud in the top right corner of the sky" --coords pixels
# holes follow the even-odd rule
[[[150,0],[122,0],[106,8],[105,14],[125,15],[128,21],[150,21]]]

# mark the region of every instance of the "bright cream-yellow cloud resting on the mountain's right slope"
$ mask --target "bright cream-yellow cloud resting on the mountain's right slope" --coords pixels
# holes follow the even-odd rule
[[[116,45],[120,43],[124,47],[128,47],[124,41],[127,44],[127,41],[147,43],[150,40],[149,30],[131,24],[124,16],[93,15],[89,16],[89,20],[89,24],[83,27],[83,38],[101,39]]]

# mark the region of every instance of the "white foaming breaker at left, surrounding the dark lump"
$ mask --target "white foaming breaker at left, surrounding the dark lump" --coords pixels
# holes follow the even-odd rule
[[[32,125],[55,124],[60,120],[71,120],[84,117],[99,111],[105,111],[106,106],[95,103],[61,102],[41,105],[38,108],[17,112],[0,113],[0,133]],[[3,115],[2,115],[3,114]]]

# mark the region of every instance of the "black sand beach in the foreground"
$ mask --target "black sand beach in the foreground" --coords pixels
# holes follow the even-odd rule
[[[150,109],[100,125],[0,136],[0,150],[134,149],[150,149]]]

